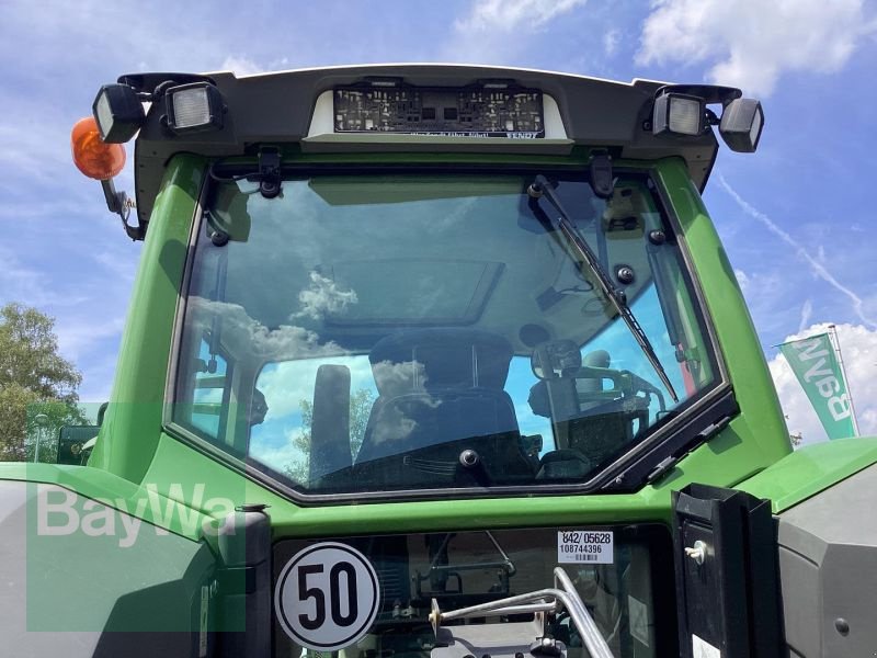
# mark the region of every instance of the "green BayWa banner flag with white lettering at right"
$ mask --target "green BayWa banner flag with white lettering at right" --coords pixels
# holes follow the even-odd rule
[[[783,343],[779,351],[798,377],[829,439],[854,436],[850,393],[829,334]]]

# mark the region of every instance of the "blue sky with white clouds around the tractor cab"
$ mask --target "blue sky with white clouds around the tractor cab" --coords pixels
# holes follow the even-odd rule
[[[4,0],[0,25],[0,304],[57,318],[83,400],[109,395],[141,249],[70,162],[69,131],[102,83],[144,70],[466,61],[720,82],[762,99],[759,152],[722,148],[707,206],[789,429],[824,435],[772,345],[834,322],[859,424],[877,434],[873,2]],[[118,184],[133,188],[130,166]]]

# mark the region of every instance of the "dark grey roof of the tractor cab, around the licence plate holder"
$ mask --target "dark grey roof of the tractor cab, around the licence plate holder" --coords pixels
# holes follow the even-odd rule
[[[400,134],[331,134],[318,114],[320,100],[339,87],[391,78],[418,88],[466,88],[490,81],[538,90],[553,101],[558,127],[545,139],[430,137]],[[703,189],[718,150],[711,131],[699,136],[656,136],[651,113],[656,92],[650,80],[613,82],[569,73],[506,67],[395,64],[342,66],[262,73],[238,78],[231,72],[187,76],[123,76],[138,91],[153,92],[168,81],[209,80],[223,95],[226,112],[218,131],[174,134],[166,126],[164,103],[155,102],[136,141],[137,208],[146,222],[170,158],[176,152],[208,157],[254,154],[258,145],[299,145],[305,152],[504,152],[569,154],[576,146],[607,148],[615,157],[657,159],[679,156]],[[329,97],[331,98],[331,97]],[[549,100],[547,99],[547,100]],[[556,105],[556,106],[555,106]],[[546,103],[546,125],[549,122]]]

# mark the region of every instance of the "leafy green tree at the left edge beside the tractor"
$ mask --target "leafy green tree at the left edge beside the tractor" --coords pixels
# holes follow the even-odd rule
[[[54,461],[58,430],[82,424],[82,375],[58,354],[55,320],[35,308],[0,308],[0,461]]]

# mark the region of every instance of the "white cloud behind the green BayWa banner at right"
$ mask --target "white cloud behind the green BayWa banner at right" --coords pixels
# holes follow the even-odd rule
[[[824,333],[828,330],[827,322],[812,325],[804,331],[788,336],[783,342]],[[874,374],[877,368],[877,330],[870,330],[862,325],[838,325],[836,330],[859,432],[863,436],[875,435],[877,434],[877,377]],[[777,354],[767,365],[789,431],[795,434],[800,432],[805,443],[824,441],[825,431],[786,359]]]

